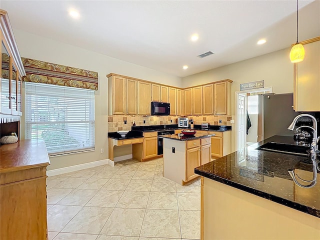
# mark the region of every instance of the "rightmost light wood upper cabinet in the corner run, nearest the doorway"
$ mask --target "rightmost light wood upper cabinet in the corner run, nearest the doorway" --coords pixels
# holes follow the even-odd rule
[[[214,115],[231,115],[231,80],[214,83]]]

